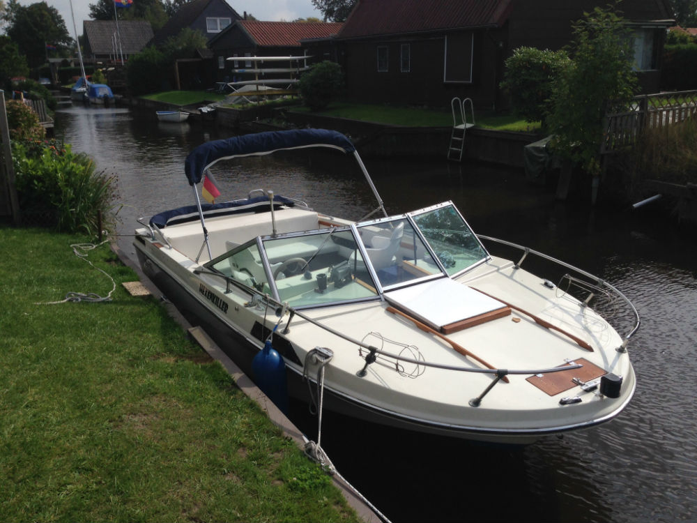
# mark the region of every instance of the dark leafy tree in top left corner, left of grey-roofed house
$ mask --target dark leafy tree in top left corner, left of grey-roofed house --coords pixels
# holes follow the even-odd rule
[[[54,7],[45,2],[20,6],[16,0],[8,3],[10,16],[7,36],[26,56],[29,67],[37,67],[46,59],[46,45],[70,47],[72,38],[66,22]]]

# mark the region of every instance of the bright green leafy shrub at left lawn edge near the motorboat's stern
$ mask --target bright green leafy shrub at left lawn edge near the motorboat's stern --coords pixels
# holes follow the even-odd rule
[[[116,181],[96,172],[93,160],[56,142],[13,142],[17,196],[29,222],[55,227],[59,232],[99,232],[112,224]]]

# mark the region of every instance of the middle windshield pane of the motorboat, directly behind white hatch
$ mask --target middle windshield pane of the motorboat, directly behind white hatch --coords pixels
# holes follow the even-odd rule
[[[382,287],[443,275],[406,218],[358,225],[358,232]]]

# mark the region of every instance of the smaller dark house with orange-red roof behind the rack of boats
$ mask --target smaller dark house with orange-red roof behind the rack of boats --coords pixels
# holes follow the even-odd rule
[[[314,61],[325,59],[323,45],[316,47],[316,54],[309,54],[303,42],[317,40],[331,45],[331,37],[342,28],[339,22],[259,22],[257,20],[238,20],[212,38],[208,47],[213,52],[218,82],[233,82],[250,79],[249,75],[239,73],[242,69],[254,67],[252,56],[304,56],[308,59],[289,62],[264,63],[262,68],[293,68],[307,66]],[[239,60],[227,60],[239,57]],[[269,73],[269,79],[288,76],[287,73]]]

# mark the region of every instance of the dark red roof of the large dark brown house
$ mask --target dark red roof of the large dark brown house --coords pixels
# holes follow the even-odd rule
[[[505,22],[511,2],[512,0],[358,0],[338,38],[499,26]]]

